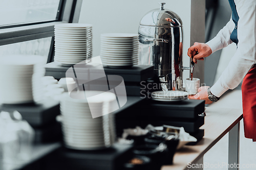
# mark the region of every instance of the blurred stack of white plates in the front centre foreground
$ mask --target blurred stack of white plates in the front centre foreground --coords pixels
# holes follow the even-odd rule
[[[80,93],[83,93],[80,92]],[[99,91],[86,91],[90,96]],[[84,93],[83,93],[84,94]],[[68,94],[60,102],[63,140],[67,148],[76,150],[97,150],[110,147],[115,141],[115,126],[112,113],[92,118],[91,112],[105,112],[111,109],[111,101],[116,96],[111,92],[104,92],[104,99],[90,102],[72,99]],[[108,99],[110,102],[106,102]],[[104,102],[103,102],[104,101]]]

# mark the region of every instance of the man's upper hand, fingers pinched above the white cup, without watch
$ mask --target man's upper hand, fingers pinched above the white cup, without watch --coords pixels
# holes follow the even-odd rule
[[[187,50],[187,55],[190,58],[194,57],[194,63],[197,63],[197,60],[204,60],[204,57],[208,57],[211,53],[212,51],[209,45],[198,42],[195,42],[194,45]]]

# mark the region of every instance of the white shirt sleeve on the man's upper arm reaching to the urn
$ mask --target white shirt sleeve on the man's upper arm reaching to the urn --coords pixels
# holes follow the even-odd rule
[[[234,22],[232,19],[230,19],[227,22],[226,26],[223,27],[223,29],[221,29],[220,32],[216,35],[216,37],[206,43],[210,46],[212,53],[232,43],[232,41],[230,40],[230,34],[232,33],[233,29]]]

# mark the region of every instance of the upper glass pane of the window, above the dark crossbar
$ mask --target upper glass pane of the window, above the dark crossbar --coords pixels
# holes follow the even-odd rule
[[[56,20],[60,0],[0,0],[0,25]]]

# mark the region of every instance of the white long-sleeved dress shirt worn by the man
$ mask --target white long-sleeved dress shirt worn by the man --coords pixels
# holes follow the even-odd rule
[[[220,97],[228,89],[236,88],[256,63],[256,0],[234,0],[234,3],[239,16],[237,27],[239,42],[237,51],[227,68],[211,87],[211,93],[217,97]],[[230,19],[217,36],[206,43],[210,46],[212,53],[232,43],[230,34],[234,26],[234,22]]]

